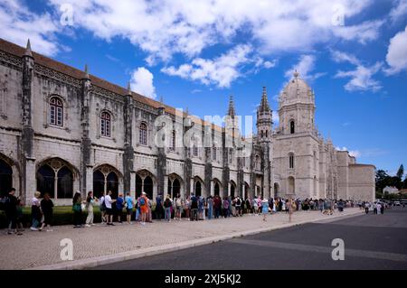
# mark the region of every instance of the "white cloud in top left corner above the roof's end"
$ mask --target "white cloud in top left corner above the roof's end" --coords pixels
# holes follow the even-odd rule
[[[20,0],[0,2],[1,37],[20,46],[30,38],[33,51],[48,56],[55,55],[64,47],[55,41],[60,28],[48,13],[35,14]]]

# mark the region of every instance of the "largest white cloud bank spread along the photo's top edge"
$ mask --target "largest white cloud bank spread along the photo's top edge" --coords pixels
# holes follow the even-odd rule
[[[251,0],[49,0],[55,10],[61,4],[75,7],[75,27],[111,41],[119,36],[159,58],[175,53],[196,58],[205,48],[230,43],[242,30],[256,50],[308,51],[332,40],[368,42],[376,39],[382,21],[338,26],[333,23],[335,6],[341,5],[345,19],[364,12],[372,0],[260,1]]]

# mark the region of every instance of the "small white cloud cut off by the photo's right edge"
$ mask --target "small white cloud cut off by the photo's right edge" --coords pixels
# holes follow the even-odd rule
[[[389,69],[385,70],[387,74],[407,70],[407,26],[404,31],[395,34],[390,40],[386,62],[390,66]]]

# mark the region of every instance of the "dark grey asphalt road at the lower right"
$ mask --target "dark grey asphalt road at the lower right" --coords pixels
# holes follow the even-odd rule
[[[344,260],[332,259],[335,238],[344,240]],[[96,269],[407,269],[407,208],[284,228]]]

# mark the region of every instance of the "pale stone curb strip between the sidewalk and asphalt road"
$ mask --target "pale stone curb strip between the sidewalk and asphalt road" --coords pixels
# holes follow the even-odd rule
[[[92,257],[92,258],[87,258],[87,259],[74,260],[74,261],[70,261],[70,262],[62,262],[62,263],[53,264],[53,265],[37,266],[37,267],[29,268],[27,270],[80,270],[80,269],[92,268],[92,267],[97,267],[99,265],[109,265],[112,263],[134,260],[134,259],[142,258],[142,257],[146,257],[146,256],[159,255],[159,254],[164,254],[167,252],[174,252],[177,250],[187,249],[187,248],[191,248],[194,246],[203,246],[203,245],[207,245],[207,244],[212,244],[212,243],[216,243],[216,242],[229,240],[229,239],[236,238],[236,237],[245,237],[245,236],[250,236],[250,235],[256,235],[256,234],[260,234],[260,233],[264,233],[264,232],[278,230],[281,228],[296,227],[296,226],[304,225],[307,223],[324,222],[327,219],[331,220],[331,219],[335,219],[335,218],[354,217],[354,216],[357,216],[359,213],[362,215],[362,213],[359,210],[357,210],[357,211],[355,211],[355,213],[346,214],[346,215],[341,215],[341,214],[333,215],[330,218],[304,220],[304,221],[300,221],[297,223],[284,223],[279,226],[270,227],[270,228],[258,228],[258,229],[252,229],[252,230],[247,230],[247,231],[234,232],[234,233],[231,233],[228,235],[215,236],[215,237],[204,237],[201,239],[188,240],[188,241],[177,243],[177,244],[168,244],[168,245],[164,245],[164,246],[153,246],[153,247],[147,247],[147,248],[142,248],[142,249],[138,249],[138,250],[130,250],[130,251],[114,254],[114,255],[102,255],[102,256],[97,256],[97,257]]]

